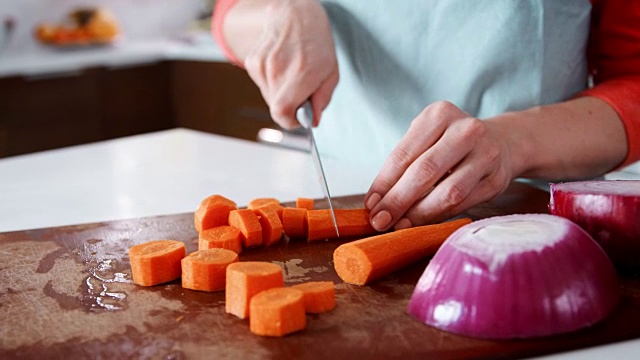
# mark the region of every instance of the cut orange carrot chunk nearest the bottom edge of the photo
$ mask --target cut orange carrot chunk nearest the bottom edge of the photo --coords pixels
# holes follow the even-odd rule
[[[274,288],[251,299],[249,330],[261,336],[284,336],[307,326],[302,291]]]

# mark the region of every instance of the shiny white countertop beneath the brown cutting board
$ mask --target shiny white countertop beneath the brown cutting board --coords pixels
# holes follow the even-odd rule
[[[323,159],[332,195],[364,193],[377,169]],[[0,159],[0,232],[192,212],[208,195],[319,198],[307,153],[186,129]],[[631,359],[640,340],[553,360]]]

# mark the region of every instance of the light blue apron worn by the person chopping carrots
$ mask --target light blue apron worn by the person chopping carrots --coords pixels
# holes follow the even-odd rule
[[[318,147],[380,168],[428,104],[478,118],[565,100],[587,85],[589,0],[323,1],[340,82]]]

